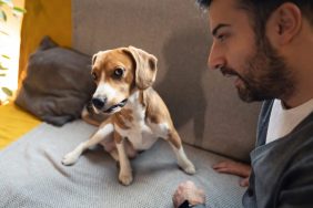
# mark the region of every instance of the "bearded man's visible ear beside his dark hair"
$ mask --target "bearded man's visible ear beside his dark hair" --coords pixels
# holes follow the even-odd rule
[[[302,28],[302,12],[294,3],[283,3],[271,15],[274,27],[276,43],[285,45],[290,43]]]

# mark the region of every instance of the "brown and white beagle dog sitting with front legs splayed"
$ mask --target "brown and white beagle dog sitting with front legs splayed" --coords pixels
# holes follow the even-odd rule
[[[63,165],[74,164],[88,148],[102,144],[119,162],[119,180],[130,185],[133,180],[130,158],[149,149],[161,137],[169,142],[178,165],[186,173],[195,168],[186,157],[181,138],[169,110],[152,89],[156,76],[156,58],[134,46],[100,51],[92,58],[92,76],[97,90],[91,103],[95,113],[108,118],[87,142],[67,154]],[[85,110],[82,116],[85,118]]]

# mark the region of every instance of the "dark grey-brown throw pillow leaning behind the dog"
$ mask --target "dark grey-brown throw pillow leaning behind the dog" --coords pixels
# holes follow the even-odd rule
[[[90,71],[91,56],[46,37],[29,58],[16,104],[57,126],[79,118],[95,90]]]

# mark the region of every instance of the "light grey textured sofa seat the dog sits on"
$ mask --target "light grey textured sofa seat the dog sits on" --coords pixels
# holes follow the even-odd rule
[[[185,152],[196,168],[193,176],[179,169],[164,141],[131,162],[134,180],[128,187],[119,184],[117,164],[101,147],[84,153],[75,165],[63,166],[62,157],[94,131],[82,121],[61,128],[43,123],[0,152],[0,207],[172,207],[172,194],[186,179],[205,189],[212,208],[241,207],[245,188],[239,186],[239,177],[211,168],[226,158],[188,145]]]

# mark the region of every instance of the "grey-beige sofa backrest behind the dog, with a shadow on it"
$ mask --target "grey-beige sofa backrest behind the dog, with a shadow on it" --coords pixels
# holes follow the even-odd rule
[[[158,58],[154,89],[185,143],[248,160],[260,104],[243,103],[231,80],[208,70],[208,12],[195,0],[73,0],[72,15],[79,51],[134,45]]]

